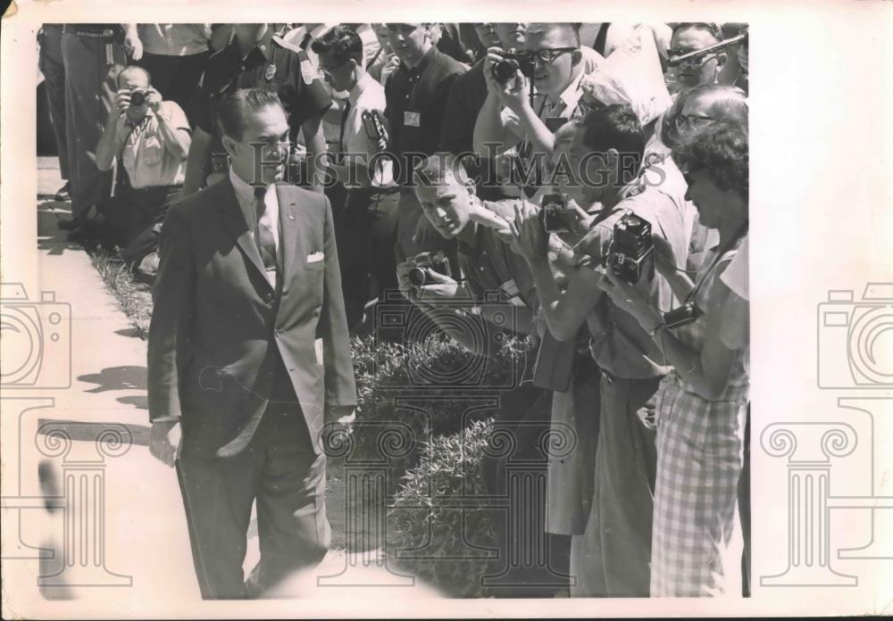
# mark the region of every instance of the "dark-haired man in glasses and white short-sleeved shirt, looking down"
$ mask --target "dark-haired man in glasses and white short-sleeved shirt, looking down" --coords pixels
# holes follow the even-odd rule
[[[384,127],[385,91],[363,69],[363,42],[354,30],[344,26],[330,29],[313,41],[313,52],[318,54],[320,70],[332,89],[347,93],[338,153],[330,167],[346,188],[336,236],[347,327],[354,328],[370,298],[368,277],[375,280],[379,300],[385,299],[388,289],[396,289],[397,186],[392,162],[373,159],[388,140],[387,134],[378,135],[377,129]],[[378,125],[375,120],[380,121]]]

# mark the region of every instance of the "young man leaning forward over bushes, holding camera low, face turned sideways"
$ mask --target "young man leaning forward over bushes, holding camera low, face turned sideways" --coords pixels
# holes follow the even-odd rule
[[[501,205],[480,201],[474,181],[452,155],[430,156],[415,171],[414,181],[425,217],[441,236],[456,240],[460,273],[445,273],[452,269],[445,257],[438,256],[442,253],[425,253],[405,261],[397,266],[397,277],[407,297],[472,352],[494,354],[482,350],[481,341],[490,347],[499,344],[498,339],[475,338],[475,333],[487,335],[509,327],[532,334],[536,289],[525,261],[505,244],[502,230],[492,228],[498,219],[495,213],[503,211]],[[483,221],[491,225],[484,226]],[[513,311],[505,310],[505,304],[511,304]],[[456,320],[453,313],[461,315],[461,320]],[[512,325],[506,325],[506,315],[514,318]],[[480,322],[480,328],[471,327],[474,322]],[[498,564],[505,567],[505,574],[494,581],[492,590],[499,597],[552,597],[568,586],[570,541],[566,536],[548,534],[543,527],[545,490],[537,487],[530,496],[519,492],[516,484],[524,476],[544,480],[547,476],[548,455],[540,438],[549,432],[552,393],[522,381],[512,391],[502,393],[499,401],[494,426],[500,434],[491,442],[496,445],[504,434],[511,434],[513,451],[500,455],[504,451],[494,446],[485,452],[481,470],[488,496],[508,496],[513,509],[494,515]],[[518,522],[522,526],[511,526]],[[538,557],[528,566],[512,560],[518,553],[536,557],[533,551],[539,550],[548,551],[547,558]]]

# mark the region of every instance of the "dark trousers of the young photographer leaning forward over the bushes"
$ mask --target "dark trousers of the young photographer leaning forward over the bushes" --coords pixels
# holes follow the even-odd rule
[[[553,597],[568,585],[570,538],[546,532],[551,402],[532,384],[502,394],[480,462],[488,499],[505,502],[491,512],[498,557],[496,574],[484,577],[497,597]]]

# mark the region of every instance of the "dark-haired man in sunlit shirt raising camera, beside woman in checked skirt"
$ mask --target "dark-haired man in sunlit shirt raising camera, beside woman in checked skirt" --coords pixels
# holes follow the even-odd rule
[[[563,293],[547,261],[546,237],[537,214],[519,211],[515,244],[530,264],[540,308],[558,340],[577,335],[585,323],[589,348],[602,370],[601,408],[592,507],[586,533],[572,544],[575,596],[647,597],[651,514],[655,489],[654,398],[666,362],[638,321],[613,305],[597,286],[593,269],[609,253],[613,228],[630,212],[647,220],[684,265],[685,197],[661,174],[639,170],[645,136],[630,106],[613,104],[577,123],[571,146],[577,178],[568,194],[584,210],[602,209],[576,246],[581,267],[568,274]],[[673,307],[661,278],[643,276],[638,290],[662,309]]]

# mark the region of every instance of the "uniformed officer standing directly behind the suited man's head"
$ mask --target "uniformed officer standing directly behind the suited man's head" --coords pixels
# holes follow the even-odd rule
[[[238,88],[266,88],[280,96],[292,136],[298,130],[304,133],[307,180],[313,189],[321,189],[314,156],[326,151],[321,116],[331,98],[317,70],[303,49],[289,46],[273,32],[272,24],[236,24],[230,44],[208,58],[187,111],[196,129],[183,194],[226,176],[227,155],[216,135],[215,117],[222,97]]]

